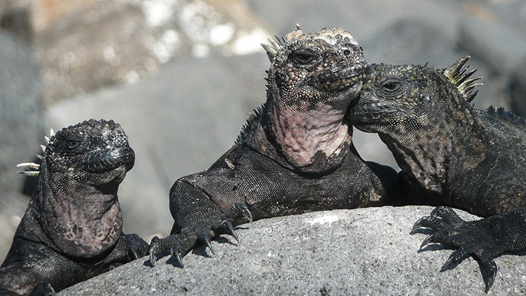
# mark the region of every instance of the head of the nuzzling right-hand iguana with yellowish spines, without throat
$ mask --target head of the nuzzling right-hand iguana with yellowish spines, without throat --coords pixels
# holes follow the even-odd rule
[[[409,133],[433,124],[469,120],[469,102],[476,92],[466,73],[466,56],[453,66],[435,70],[427,65],[372,64],[363,90],[350,110],[352,123],[364,131]],[[445,127],[443,126],[442,129]]]

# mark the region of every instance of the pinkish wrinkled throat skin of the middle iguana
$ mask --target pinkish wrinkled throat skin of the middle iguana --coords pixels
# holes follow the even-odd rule
[[[280,101],[283,102],[283,101]],[[350,100],[318,102],[314,110],[268,104],[266,131],[287,162],[306,173],[335,169],[350,149],[352,129],[345,113]]]

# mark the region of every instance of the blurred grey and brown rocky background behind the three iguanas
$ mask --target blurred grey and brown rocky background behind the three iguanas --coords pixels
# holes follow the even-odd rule
[[[89,118],[120,122],[136,150],[119,193],[125,232],[168,234],[172,183],[233,145],[265,100],[260,43],[296,23],[349,30],[368,62],[439,68],[469,54],[485,84],[475,105],[526,115],[522,0],[3,0],[0,259],[34,185],[15,165],[44,130]],[[396,167],[377,136],[355,130],[354,143]]]

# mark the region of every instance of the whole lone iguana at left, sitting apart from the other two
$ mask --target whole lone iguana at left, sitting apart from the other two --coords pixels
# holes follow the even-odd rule
[[[123,233],[118,185],[135,154],[119,124],[89,120],[46,137],[38,185],[0,267],[0,295],[54,295],[143,257],[147,243]],[[33,291],[32,291],[33,290]]]

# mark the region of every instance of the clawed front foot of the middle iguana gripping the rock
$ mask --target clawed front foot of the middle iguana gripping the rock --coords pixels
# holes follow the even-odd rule
[[[181,258],[194,247],[197,241],[203,243],[212,255],[215,255],[215,250],[210,243],[212,237],[219,234],[230,234],[239,243],[239,236],[233,228],[233,221],[238,219],[247,219],[252,222],[252,214],[242,203],[235,203],[226,210],[217,221],[210,223],[203,223],[203,225],[192,225],[194,227],[188,229],[183,228],[181,233],[171,234],[169,237],[160,239],[154,237],[148,248],[149,264],[155,266],[158,257],[167,250],[170,250],[170,255],[176,260],[179,266],[184,267]],[[196,231],[196,229],[198,229]]]

